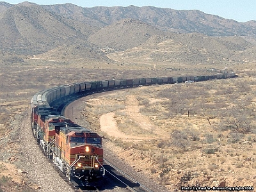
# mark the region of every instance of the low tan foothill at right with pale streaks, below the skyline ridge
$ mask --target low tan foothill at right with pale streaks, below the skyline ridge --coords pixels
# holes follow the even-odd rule
[[[220,38],[199,33],[155,35],[138,47],[109,53],[108,57],[124,63],[244,63],[244,58],[256,61],[251,52],[255,50],[253,47],[238,36]]]

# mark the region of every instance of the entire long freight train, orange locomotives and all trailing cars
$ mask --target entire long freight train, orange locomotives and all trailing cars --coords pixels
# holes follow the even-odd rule
[[[207,81],[235,77],[236,73],[211,76],[156,77],[139,79],[111,79],[69,84],[43,90],[31,99],[33,134],[49,159],[65,173],[68,179],[85,182],[104,177],[102,138],[63,116],[58,107],[63,100],[116,88],[132,88],[150,84]],[[71,99],[70,99],[71,98]],[[56,105],[59,103],[59,105]]]

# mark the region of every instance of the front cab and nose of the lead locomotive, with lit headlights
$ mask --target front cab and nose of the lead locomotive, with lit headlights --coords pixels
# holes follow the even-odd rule
[[[66,134],[66,150],[70,152],[73,161],[70,175],[82,180],[93,180],[104,175],[102,139],[96,133],[85,128],[79,132]]]

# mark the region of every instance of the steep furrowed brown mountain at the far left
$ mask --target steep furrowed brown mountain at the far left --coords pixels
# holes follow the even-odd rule
[[[0,26],[1,48],[23,49],[33,54],[70,42],[86,42],[95,29],[28,2],[10,6],[2,13]]]

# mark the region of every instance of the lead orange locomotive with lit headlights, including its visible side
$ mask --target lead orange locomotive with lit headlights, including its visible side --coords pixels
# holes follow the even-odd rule
[[[67,164],[67,176],[81,180],[95,180],[104,176],[102,138],[84,127],[73,124],[56,132],[61,163]],[[64,166],[65,167],[65,166]]]

